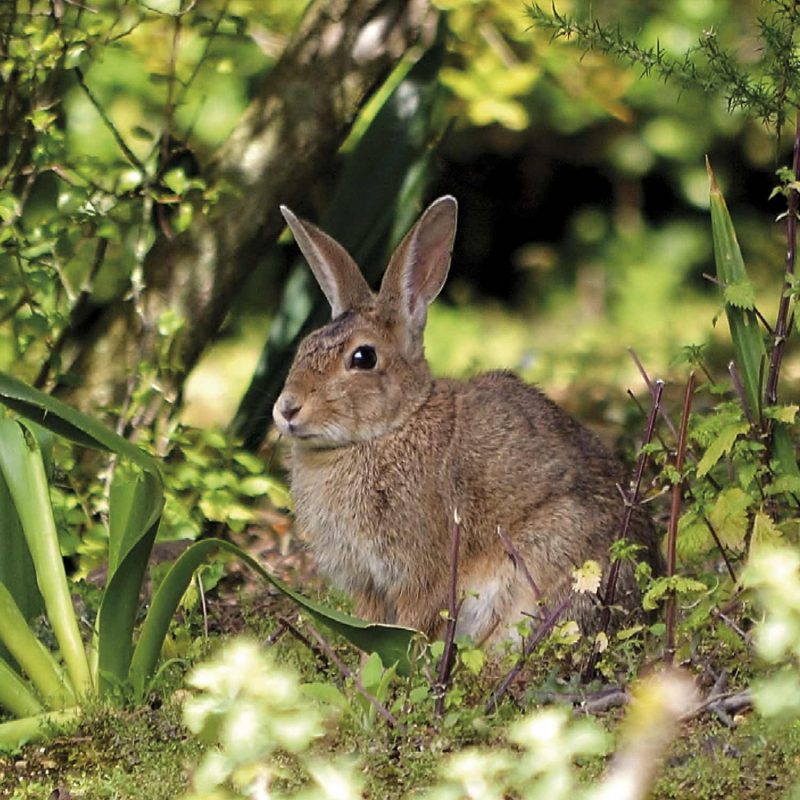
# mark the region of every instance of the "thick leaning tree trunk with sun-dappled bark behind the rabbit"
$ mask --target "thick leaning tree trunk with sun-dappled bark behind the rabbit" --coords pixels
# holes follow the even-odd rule
[[[164,394],[177,397],[251,269],[283,229],[279,204],[303,207],[366,99],[410,47],[432,37],[434,25],[429,0],[312,3],[207,171],[209,182],[232,191],[208,216],[198,212],[183,234],[159,234],[138,294],[67,332],[65,352],[77,355],[59,393],[83,408],[123,403],[138,365],[155,361],[158,320],[171,309],[185,325],[160,380]]]

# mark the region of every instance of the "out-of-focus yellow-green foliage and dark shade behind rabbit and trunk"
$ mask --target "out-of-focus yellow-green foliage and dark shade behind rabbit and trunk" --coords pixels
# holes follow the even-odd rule
[[[61,339],[80,353],[81,337],[98,335],[90,322],[103,309],[136,299],[159,239],[213,217],[230,188],[214,173],[220,151],[277,80],[276,64],[308,12],[297,0],[90,5],[65,5],[60,17],[35,0],[0,12],[2,155],[11,175],[0,191],[0,368],[44,386],[80,382],[80,356],[70,362]],[[555,8],[599,14],[675,59],[713,31],[747,65],[758,58],[757,21],[769,6],[559,0]],[[521,0],[431,7],[427,33],[370,93],[335,154],[294,187],[297,210],[356,255],[348,229],[384,226],[380,245],[361,256],[379,275],[424,205],[455,195],[450,279],[426,334],[435,372],[508,367],[610,439],[626,426],[638,430],[626,390],[645,387],[628,348],[652,376],[680,381],[698,348],[712,371],[724,372],[728,358],[719,288],[703,277],[714,272],[706,156],[759,308],[774,319],[785,244],[774,222],[783,199],[770,193],[793,133],[729,108],[722,93],[673,85],[553,38]],[[27,128],[10,121],[14,103]],[[14,167],[20,158],[32,172]],[[375,199],[381,189],[390,203]],[[377,214],[389,208],[390,218]],[[184,422],[236,420],[242,435],[263,431],[268,404],[240,404],[248,387],[251,400],[263,398],[282,379],[285,358],[276,360],[274,348],[265,356],[265,341],[291,350],[302,324],[287,331],[287,320],[311,324],[309,308],[320,302],[313,284],[292,277],[306,269],[297,258],[285,231],[251,250],[246,280],[170,400]],[[193,324],[168,312],[153,323],[161,344],[150,389],[159,368],[169,371],[170,337]],[[324,319],[324,307],[317,313]],[[78,322],[86,328],[76,334]],[[784,376],[799,374],[790,357]]]

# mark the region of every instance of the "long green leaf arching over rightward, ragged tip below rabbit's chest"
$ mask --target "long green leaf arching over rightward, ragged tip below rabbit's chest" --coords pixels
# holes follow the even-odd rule
[[[192,580],[194,571],[217,550],[233,553],[265,581],[307,611],[315,620],[341,634],[356,647],[368,653],[378,653],[385,665],[397,663],[399,671],[404,674],[410,672],[408,647],[416,631],[396,625],[378,625],[366,622],[357,617],[351,617],[349,614],[327,608],[290,589],[283,581],[267,572],[261,564],[236,545],[221,539],[203,539],[192,544],[180,555],[153,597],[131,661],[131,680],[138,692],[144,690],[147,680],[155,670],[170,621],[186,587]]]

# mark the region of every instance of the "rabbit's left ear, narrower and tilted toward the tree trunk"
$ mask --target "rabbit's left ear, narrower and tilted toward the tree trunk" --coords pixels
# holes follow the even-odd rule
[[[333,319],[373,301],[372,291],[361,270],[339,242],[310,222],[298,219],[286,206],[281,206],[281,214],[331,304]]]

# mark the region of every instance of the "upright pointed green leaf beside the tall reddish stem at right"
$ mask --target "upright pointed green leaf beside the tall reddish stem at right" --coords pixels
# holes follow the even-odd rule
[[[710,182],[711,232],[714,241],[714,260],[717,278],[728,289],[750,282],[742,252],[736,238],[725,198],[719,189],[711,164],[706,159]],[[734,291],[736,291],[734,289]],[[741,291],[739,292],[741,295]],[[739,297],[741,299],[741,297]],[[758,317],[751,308],[740,308],[726,298],[725,314],[731,331],[734,358],[744,386],[750,415],[758,419],[761,413],[761,371],[767,351]]]

